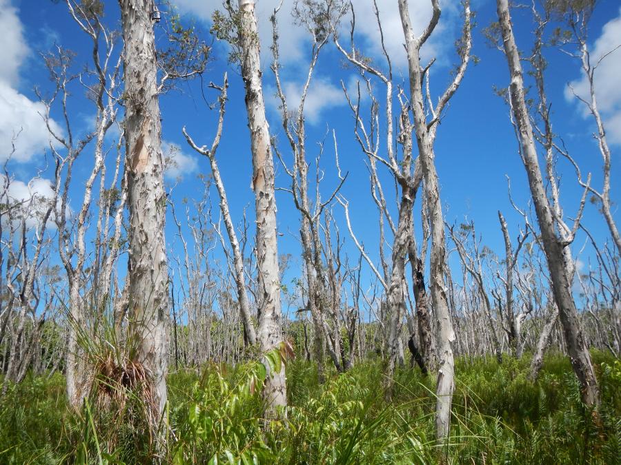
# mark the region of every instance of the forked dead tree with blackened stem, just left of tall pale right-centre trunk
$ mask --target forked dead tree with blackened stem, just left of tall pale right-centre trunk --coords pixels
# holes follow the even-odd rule
[[[359,50],[355,48],[355,11],[352,11],[350,32],[351,50],[345,50],[339,43],[337,37],[335,37],[335,44],[337,45],[339,51],[346,57],[346,59],[352,65],[355,65],[357,70],[359,70],[359,72],[361,73],[361,76],[366,82],[366,92],[368,92],[372,100],[370,118],[371,127],[366,127],[363,118],[360,115],[359,86],[357,88],[356,99],[353,99],[344,87],[347,101],[355,119],[354,132],[356,140],[360,148],[362,149],[362,152],[366,154],[368,158],[368,167],[371,174],[371,194],[380,213],[380,262],[382,266],[383,276],[380,275],[375,266],[373,266],[368,256],[364,254],[364,251],[360,247],[355,237],[353,238],[359,249],[361,249],[360,251],[362,256],[364,256],[365,260],[369,263],[369,265],[371,265],[371,269],[375,271],[378,280],[380,281],[380,283],[382,283],[386,291],[386,305],[388,311],[388,318],[390,321],[388,324],[388,335],[386,338],[388,343],[388,365],[386,367],[386,378],[388,380],[389,393],[392,383],[391,380],[395,371],[395,365],[397,363],[397,360],[402,360],[402,319],[406,315],[406,296],[404,294],[404,282],[406,282],[405,265],[406,257],[408,256],[408,254],[414,259],[417,255],[415,243],[413,242],[413,205],[415,202],[417,189],[422,181],[422,170],[420,167],[420,161],[415,161],[413,157],[413,126],[408,113],[408,102],[406,102],[406,99],[402,95],[401,90],[399,93],[401,112],[398,116],[397,121],[399,121],[399,127],[395,136],[395,130],[393,127],[393,119],[395,118],[395,115],[393,114],[393,99],[395,99],[395,96],[393,95],[394,87],[391,58],[390,56],[388,56],[386,48],[384,47],[384,32],[382,30],[382,22],[380,20],[380,12],[377,9],[377,3],[373,3],[373,8],[375,11],[377,25],[380,28],[380,40],[382,41],[382,50],[384,50],[384,59],[387,68],[386,72],[380,70],[378,66],[368,63],[368,61],[366,61],[364,57],[361,56]],[[367,74],[379,79],[386,88],[386,156],[381,156],[379,154],[380,105],[375,99],[375,96],[373,95],[373,92],[371,90],[371,81],[370,78],[366,77]],[[397,161],[398,155],[395,154],[395,151],[393,149],[395,143],[399,143],[402,146],[402,156],[399,161]],[[395,178],[395,182],[399,185],[401,189],[399,213],[396,225],[391,218],[391,215],[388,213],[386,199],[384,198],[384,191],[380,183],[380,178],[377,176],[377,163],[388,167],[391,174]],[[341,203],[346,206],[344,199],[340,199],[339,201],[341,201]],[[346,217],[348,220],[348,227],[350,228],[351,234],[353,235],[353,231],[351,230],[351,224],[349,223],[347,207]],[[390,271],[388,271],[388,265],[386,259],[384,258],[384,217],[386,218],[386,221],[393,234]],[[415,283],[415,299],[417,302],[417,310],[426,311],[426,305],[428,304],[428,300],[426,299],[424,284],[420,286],[420,280]],[[425,318],[421,318],[419,321],[423,324],[428,322],[428,320],[426,320]],[[430,332],[431,331],[420,331],[420,335],[422,335],[422,337],[424,338]],[[430,340],[421,340],[421,346],[424,346],[424,353],[430,353]]]

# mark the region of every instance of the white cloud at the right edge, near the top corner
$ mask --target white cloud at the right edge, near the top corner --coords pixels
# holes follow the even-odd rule
[[[591,63],[621,45],[621,9],[619,16],[611,19],[602,28],[602,34],[591,47]],[[621,145],[621,49],[607,56],[595,70],[595,96],[598,99],[598,110],[604,118],[609,143]],[[589,101],[589,83],[586,77],[572,81],[570,86],[576,94]],[[565,97],[575,99],[571,88],[565,89]],[[580,103],[582,105],[582,103]],[[584,107],[584,117],[590,117],[589,110]]]

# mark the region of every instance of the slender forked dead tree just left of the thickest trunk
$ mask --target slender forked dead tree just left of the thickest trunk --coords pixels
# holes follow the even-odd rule
[[[59,251],[61,256],[61,262],[66,269],[69,282],[69,342],[67,351],[67,366],[66,366],[66,378],[67,378],[67,395],[69,403],[75,409],[78,409],[83,398],[88,394],[90,385],[90,367],[86,364],[87,355],[84,351],[85,347],[81,347],[84,344],[80,343],[90,340],[92,338],[88,331],[85,331],[87,327],[87,314],[90,309],[99,309],[101,302],[89,301],[88,292],[85,287],[88,282],[88,274],[93,271],[99,271],[99,263],[94,263],[94,267],[89,267],[89,273],[85,273],[85,265],[87,258],[85,236],[88,227],[88,216],[90,215],[93,188],[97,178],[100,178],[100,189],[103,189],[105,185],[105,158],[106,148],[104,147],[104,138],[112,124],[116,121],[117,116],[117,85],[119,70],[121,65],[121,59],[117,59],[116,62],[112,61],[113,52],[115,52],[115,33],[106,30],[101,24],[102,12],[97,9],[97,4],[92,6],[85,6],[81,3],[77,3],[72,0],[67,0],[67,6],[71,14],[72,19],[77,23],[79,28],[89,37],[92,41],[92,60],[94,70],[92,72],[84,73],[84,76],[79,76],[80,83],[86,87],[87,92],[92,96],[92,101],[95,103],[96,116],[95,116],[95,130],[87,133],[86,136],[79,141],[75,141],[72,137],[72,128],[70,127],[70,116],[67,107],[68,99],[68,85],[70,83],[70,76],[68,76],[68,68],[65,65],[61,65],[59,70],[53,68],[52,63],[56,61],[48,61],[50,63],[50,72],[55,77],[57,87],[62,92],[62,107],[65,114],[66,127],[64,128],[68,136],[64,137],[61,134],[57,134],[52,130],[52,127],[48,121],[48,128],[50,134],[57,141],[58,145],[66,150],[66,156],[61,156],[58,153],[54,145],[52,145],[52,152],[58,161],[57,170],[57,192],[59,195],[59,211],[55,215],[57,220],[57,227],[59,230]],[[105,47],[101,49],[101,43],[103,37],[103,44]],[[61,56],[60,63],[68,61]],[[93,74],[94,81],[88,83],[86,79],[88,74]],[[70,242],[70,236],[66,229],[66,216],[68,215],[68,190],[72,179],[72,167],[77,160],[77,157],[83,152],[83,149],[94,141],[95,147],[95,162],[93,163],[92,170],[88,176],[84,185],[84,196],[81,207],[75,218],[75,243]],[[66,169],[65,178],[62,180],[64,170]],[[101,194],[101,190],[99,192]],[[105,201],[105,199],[101,199]],[[103,208],[102,208],[103,207]],[[99,209],[98,224],[97,224],[97,236],[101,232],[101,218],[103,214],[104,205],[101,205]],[[98,249],[101,247],[98,247]],[[107,298],[104,297],[104,298]],[[90,309],[89,309],[90,307]],[[99,318],[98,315],[95,318]]]

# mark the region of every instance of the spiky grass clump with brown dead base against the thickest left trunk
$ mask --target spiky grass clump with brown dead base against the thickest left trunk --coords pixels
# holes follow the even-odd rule
[[[135,338],[127,337],[115,324],[107,300],[99,307],[92,324],[75,328],[85,373],[82,373],[86,403],[81,412],[90,423],[90,444],[115,459],[152,457],[161,430],[159,411],[152,391],[152,375],[138,361]],[[103,445],[103,447],[102,447]],[[94,454],[94,451],[93,451]]]

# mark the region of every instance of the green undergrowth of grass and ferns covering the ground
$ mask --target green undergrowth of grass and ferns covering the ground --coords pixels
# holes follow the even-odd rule
[[[205,366],[168,378],[170,428],[155,450],[129,415],[87,402],[70,413],[64,380],[27,378],[0,399],[0,463],[132,464],[615,464],[621,457],[621,362],[593,351],[602,406],[580,403],[567,358],[547,355],[538,382],[529,357],[462,358],[455,366],[451,437],[434,440],[435,380],[395,373],[390,400],[379,360],[317,380],[286,366],[286,412],[264,417],[262,364]],[[278,369],[271,360],[271,369]],[[120,420],[119,420],[120,419]]]

